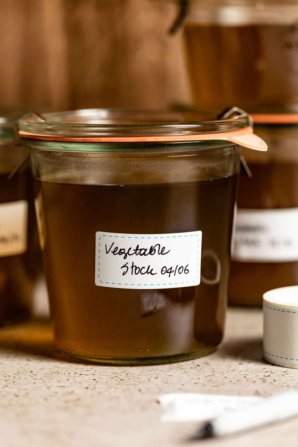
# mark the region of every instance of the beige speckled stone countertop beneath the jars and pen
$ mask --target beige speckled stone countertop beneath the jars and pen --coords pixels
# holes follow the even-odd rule
[[[298,369],[262,360],[259,309],[230,309],[225,340],[206,357],[162,366],[82,364],[55,351],[45,319],[0,330],[0,445],[189,446],[198,424],[160,422],[166,392],[266,395],[298,386]],[[193,445],[298,444],[298,419]]]

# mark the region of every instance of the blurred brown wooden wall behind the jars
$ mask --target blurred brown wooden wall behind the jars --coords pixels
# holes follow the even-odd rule
[[[0,104],[48,110],[189,101],[168,0],[1,0]]]

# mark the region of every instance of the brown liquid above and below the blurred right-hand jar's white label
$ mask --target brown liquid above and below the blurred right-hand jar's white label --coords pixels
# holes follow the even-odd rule
[[[298,207],[298,164],[250,163],[249,167],[252,179],[239,176],[239,208]],[[261,306],[264,292],[296,284],[298,262],[232,262],[229,304]]]

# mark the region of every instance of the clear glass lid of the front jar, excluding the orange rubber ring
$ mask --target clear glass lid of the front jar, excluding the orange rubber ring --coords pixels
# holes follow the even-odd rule
[[[249,127],[249,118],[239,115],[215,119],[211,112],[172,112],[168,110],[80,109],[42,116],[26,114],[18,120],[18,129],[26,138],[70,137],[159,137],[200,135],[238,131]],[[51,139],[51,138],[47,138]]]

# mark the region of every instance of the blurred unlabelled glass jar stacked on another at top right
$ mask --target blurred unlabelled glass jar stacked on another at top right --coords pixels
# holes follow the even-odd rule
[[[189,0],[184,40],[193,104],[245,110],[298,102],[298,1]]]

